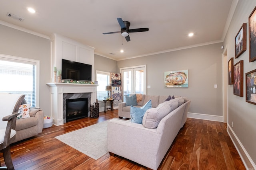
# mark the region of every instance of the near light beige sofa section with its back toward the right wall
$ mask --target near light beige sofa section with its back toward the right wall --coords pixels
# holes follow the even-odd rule
[[[156,108],[146,111],[142,124],[122,119],[108,121],[110,155],[117,154],[157,170],[180,128],[186,122],[189,105],[190,100],[186,98],[176,98],[159,104]]]

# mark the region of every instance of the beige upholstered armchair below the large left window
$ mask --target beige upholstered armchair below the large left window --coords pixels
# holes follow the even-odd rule
[[[13,143],[42,133],[43,126],[44,112],[42,109],[30,109],[30,117],[17,119],[15,127],[16,139]]]

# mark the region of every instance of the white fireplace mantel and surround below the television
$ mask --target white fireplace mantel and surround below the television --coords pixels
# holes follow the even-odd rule
[[[91,93],[91,104],[96,102],[98,84],[47,83],[47,85],[50,87],[50,115],[54,125],[64,123],[63,94]]]

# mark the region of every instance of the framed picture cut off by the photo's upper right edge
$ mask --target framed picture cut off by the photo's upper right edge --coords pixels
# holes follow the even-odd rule
[[[256,60],[256,7],[249,16],[249,62]]]

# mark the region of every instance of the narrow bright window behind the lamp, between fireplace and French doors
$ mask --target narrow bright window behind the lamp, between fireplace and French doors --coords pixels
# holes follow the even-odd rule
[[[96,81],[98,81],[99,86],[97,86],[97,99],[104,100],[108,96],[106,91],[106,86],[110,84],[110,72],[102,72],[96,70]]]

